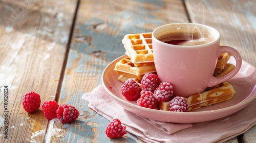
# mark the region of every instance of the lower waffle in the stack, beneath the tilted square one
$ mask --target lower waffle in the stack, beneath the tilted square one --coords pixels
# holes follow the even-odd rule
[[[155,73],[155,65],[139,66],[136,67],[130,57],[121,59],[116,63],[114,70],[118,75],[122,75],[127,78],[134,78],[140,81],[146,73]]]

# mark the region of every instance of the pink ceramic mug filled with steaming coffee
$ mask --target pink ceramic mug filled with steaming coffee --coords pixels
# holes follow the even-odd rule
[[[171,83],[174,94],[183,97],[227,81],[242,65],[236,49],[220,46],[220,33],[216,29],[197,23],[171,23],[158,27],[152,33],[152,43],[160,81]],[[216,63],[224,52],[236,59],[236,68],[228,75],[216,78],[213,76]]]

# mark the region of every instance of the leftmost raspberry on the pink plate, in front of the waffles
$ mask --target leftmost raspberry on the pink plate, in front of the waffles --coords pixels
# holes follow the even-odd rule
[[[140,98],[140,91],[141,88],[139,84],[133,80],[128,79],[123,82],[123,85],[121,86],[121,93],[126,98],[126,100],[134,101]]]

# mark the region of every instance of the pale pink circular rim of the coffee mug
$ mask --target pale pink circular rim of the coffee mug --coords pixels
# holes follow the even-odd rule
[[[206,44],[200,44],[200,45],[175,45],[175,44],[168,44],[168,43],[165,43],[159,39],[157,39],[155,37],[155,33],[159,30],[159,29],[162,29],[163,27],[168,27],[170,25],[193,25],[193,26],[200,26],[200,27],[204,27],[204,28],[207,28],[211,31],[214,31],[217,35],[214,36],[214,41],[211,41],[211,42],[208,42]],[[212,33],[214,33],[212,32]],[[204,46],[208,46],[208,45],[211,45],[211,44],[215,44],[216,42],[219,42],[220,41],[220,32],[218,30],[216,30],[215,28],[212,28],[210,26],[207,26],[207,25],[202,25],[200,23],[189,23],[189,22],[179,22],[179,23],[168,23],[166,25],[162,25],[160,27],[157,27],[156,29],[153,30],[152,32],[152,42],[156,40],[157,42],[160,42],[161,44],[164,44],[164,45],[169,45],[169,46],[172,46],[172,47],[179,47],[179,48],[196,48],[196,47],[204,47]]]

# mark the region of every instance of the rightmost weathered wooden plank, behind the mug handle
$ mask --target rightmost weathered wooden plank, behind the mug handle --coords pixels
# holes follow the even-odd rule
[[[256,67],[255,1],[186,0],[185,4],[191,22],[217,29],[221,34],[222,45],[236,48],[244,61]],[[255,128],[254,126],[244,133],[244,142],[256,142]]]

